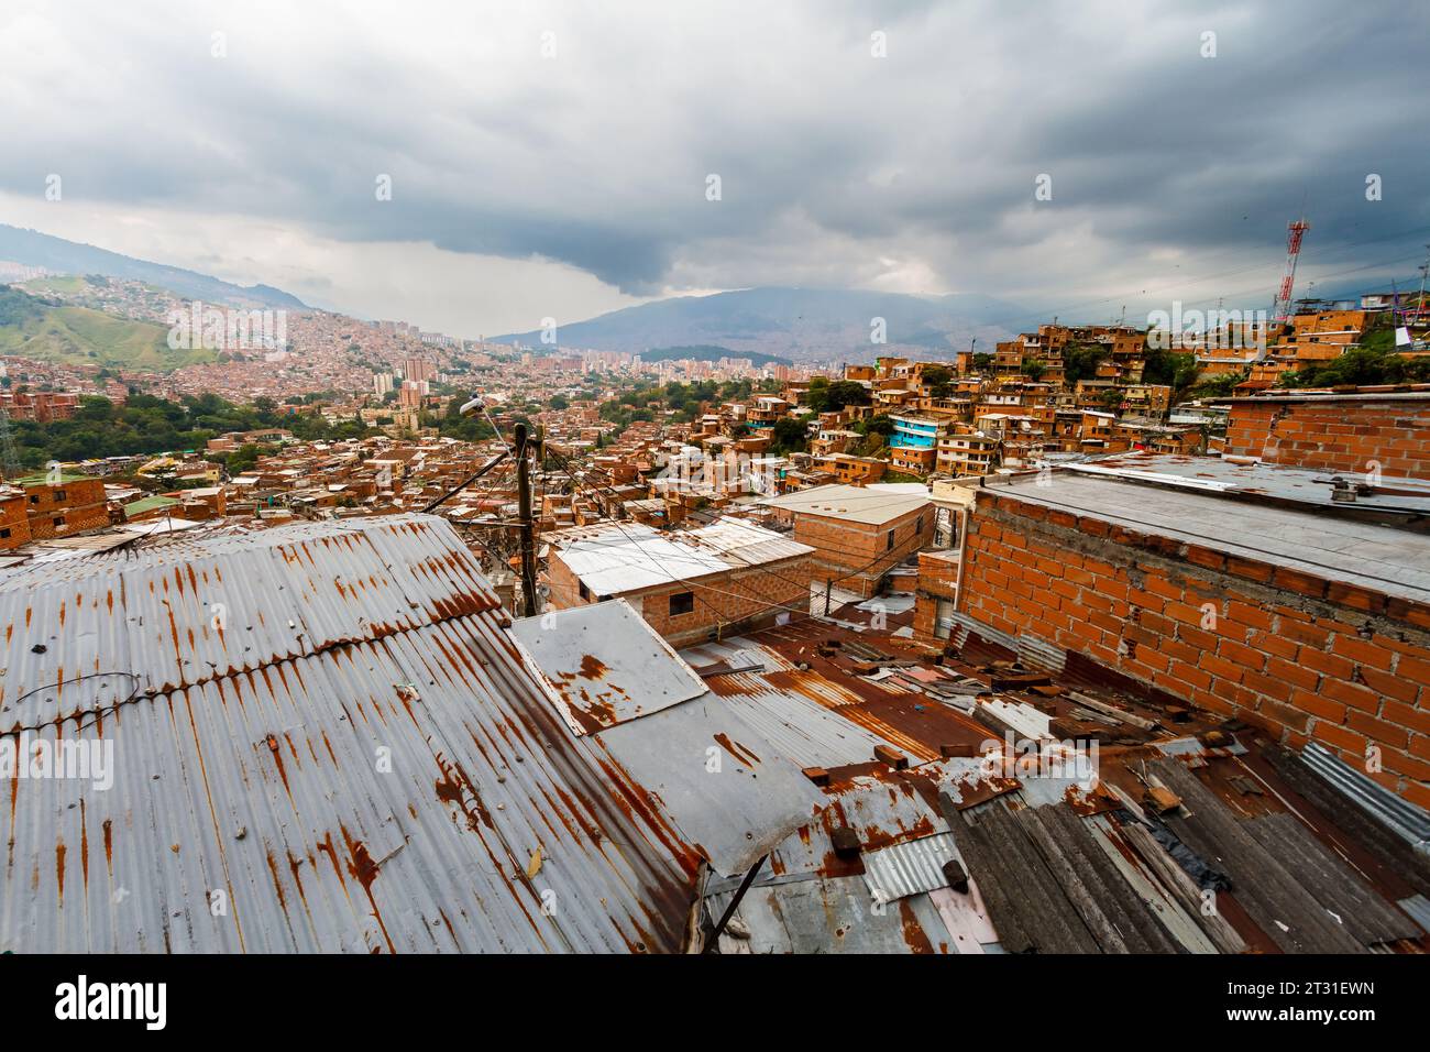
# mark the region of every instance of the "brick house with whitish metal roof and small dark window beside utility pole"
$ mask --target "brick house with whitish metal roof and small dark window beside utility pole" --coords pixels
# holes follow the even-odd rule
[[[784,534],[722,518],[699,530],[639,522],[543,534],[549,605],[622,598],[672,646],[774,624],[809,607],[814,550]]]

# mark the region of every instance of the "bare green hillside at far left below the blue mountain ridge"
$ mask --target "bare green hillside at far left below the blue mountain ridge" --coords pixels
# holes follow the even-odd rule
[[[13,288],[0,288],[0,355],[163,372],[217,358],[213,351],[170,349],[162,325],[59,306]]]

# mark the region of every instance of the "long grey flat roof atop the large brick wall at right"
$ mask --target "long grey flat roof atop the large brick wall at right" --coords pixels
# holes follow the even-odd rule
[[[1054,472],[988,487],[1028,504],[1430,603],[1430,537],[1394,527],[1228,501],[1118,478]]]

